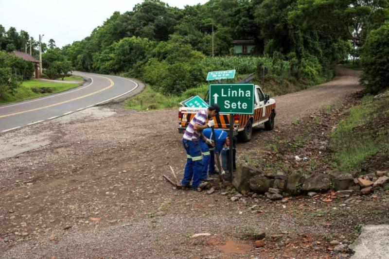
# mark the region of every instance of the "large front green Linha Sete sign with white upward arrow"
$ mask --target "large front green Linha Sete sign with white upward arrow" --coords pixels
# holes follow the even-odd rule
[[[254,84],[210,85],[210,105],[218,104],[220,113],[253,114]]]

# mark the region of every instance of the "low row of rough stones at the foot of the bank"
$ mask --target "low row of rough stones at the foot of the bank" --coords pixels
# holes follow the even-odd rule
[[[283,172],[262,172],[248,165],[238,165],[232,185],[240,192],[264,194],[270,200],[279,200],[283,196],[311,194],[336,190],[337,197],[349,197],[352,194],[368,194],[375,188],[389,182],[387,171],[377,171],[354,177],[350,173],[312,173],[304,176],[300,173],[286,175]]]

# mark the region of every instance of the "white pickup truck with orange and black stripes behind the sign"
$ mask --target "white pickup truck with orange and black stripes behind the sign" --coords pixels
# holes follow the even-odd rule
[[[208,102],[208,93],[205,101]],[[209,102],[208,102],[209,103]],[[195,114],[205,108],[180,107],[178,110],[178,131],[184,133],[189,122]],[[252,136],[252,127],[265,124],[266,130],[272,130],[274,127],[274,117],[276,116],[276,101],[265,95],[261,87],[255,86],[255,102],[254,114],[239,115],[235,114],[234,129],[238,133],[238,137],[243,142],[248,142]],[[212,118],[215,121],[215,128],[229,130],[230,129],[230,115],[220,114]]]

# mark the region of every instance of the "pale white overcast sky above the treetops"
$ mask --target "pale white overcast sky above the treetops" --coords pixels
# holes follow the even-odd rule
[[[0,0],[0,24],[15,27],[43,42],[54,39],[58,47],[81,40],[112,15],[131,11],[142,0]],[[205,3],[207,0],[164,0],[170,6]]]

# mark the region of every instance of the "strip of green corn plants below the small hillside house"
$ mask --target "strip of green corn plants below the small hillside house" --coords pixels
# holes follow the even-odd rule
[[[211,70],[236,69],[238,74],[248,74],[256,71],[258,65],[265,66],[268,70],[285,71],[289,69],[289,63],[283,60],[273,60],[269,57],[251,56],[226,56],[207,57],[201,61],[201,65]]]

